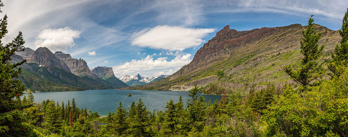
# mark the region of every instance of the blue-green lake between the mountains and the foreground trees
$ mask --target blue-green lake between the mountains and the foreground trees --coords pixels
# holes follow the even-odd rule
[[[132,96],[127,95],[131,92]],[[109,110],[114,112],[118,107],[119,102],[122,102],[124,108],[129,108],[132,102],[138,102],[139,98],[142,99],[147,107],[147,110],[165,110],[166,102],[173,99],[174,102],[178,102],[179,97],[182,97],[184,104],[186,105],[187,98],[189,98],[187,91],[153,91],[153,90],[118,90],[118,89],[102,89],[102,90],[86,90],[86,91],[65,91],[65,92],[39,92],[32,93],[34,95],[34,102],[42,102],[43,100],[52,99],[59,101],[59,104],[68,104],[73,98],[79,108],[87,108],[92,112],[98,112],[99,115],[107,115]],[[26,95],[26,94],[24,94]],[[201,92],[198,93],[198,96]],[[205,101],[220,100],[219,95],[202,95]]]

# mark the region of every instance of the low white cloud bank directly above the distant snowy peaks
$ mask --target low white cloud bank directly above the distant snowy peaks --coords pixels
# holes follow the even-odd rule
[[[148,55],[141,60],[132,60],[112,69],[116,76],[120,77],[126,74],[136,75],[140,73],[144,76],[155,76],[159,74],[173,74],[182,66],[191,62],[191,54],[182,53],[177,55],[173,60],[167,61],[168,57],[154,59]]]

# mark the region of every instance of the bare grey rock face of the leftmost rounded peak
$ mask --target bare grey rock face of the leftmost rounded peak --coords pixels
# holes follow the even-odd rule
[[[64,61],[58,59],[49,49],[38,48],[27,61],[28,63],[36,63],[39,66],[54,66],[71,72]]]

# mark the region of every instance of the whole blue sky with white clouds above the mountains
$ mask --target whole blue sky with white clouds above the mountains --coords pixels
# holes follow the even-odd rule
[[[315,23],[338,30],[347,0],[2,0],[11,41],[84,59],[90,69],[173,74],[224,26],[238,31]]]

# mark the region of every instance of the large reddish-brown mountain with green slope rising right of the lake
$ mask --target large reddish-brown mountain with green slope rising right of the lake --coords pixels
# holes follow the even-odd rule
[[[251,87],[258,90],[267,84],[293,83],[282,68],[299,63],[302,29],[306,26],[292,24],[237,31],[227,25],[171,76],[124,89],[187,91],[196,83],[205,94],[222,94],[224,90],[249,92]],[[328,61],[341,37],[324,26],[315,25],[315,29],[322,33],[319,44],[325,42],[321,60]]]

